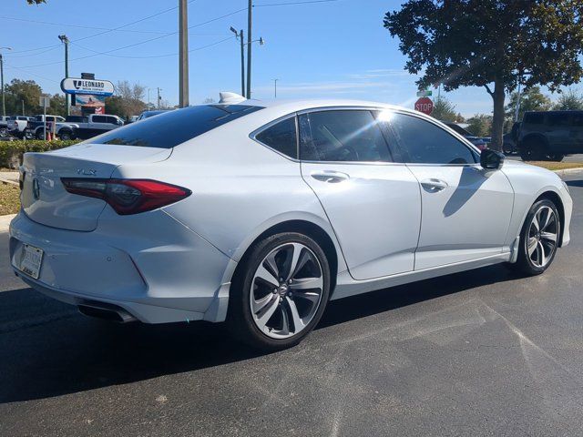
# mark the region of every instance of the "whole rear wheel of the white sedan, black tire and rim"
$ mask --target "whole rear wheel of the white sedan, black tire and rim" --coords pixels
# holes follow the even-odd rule
[[[322,318],[330,283],[328,259],[313,239],[295,232],[262,239],[232,281],[230,330],[262,351],[292,347]]]

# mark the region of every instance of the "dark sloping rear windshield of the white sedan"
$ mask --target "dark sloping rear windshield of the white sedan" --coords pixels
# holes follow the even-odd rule
[[[247,105],[185,107],[119,127],[86,143],[171,148],[259,109],[262,107]]]

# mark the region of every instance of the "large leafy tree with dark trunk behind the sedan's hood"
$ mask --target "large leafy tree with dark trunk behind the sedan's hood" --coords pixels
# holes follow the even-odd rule
[[[496,149],[502,147],[506,93],[517,77],[527,87],[554,91],[583,74],[580,0],[407,0],[384,16],[384,26],[400,39],[405,69],[422,74],[419,86],[486,88]]]

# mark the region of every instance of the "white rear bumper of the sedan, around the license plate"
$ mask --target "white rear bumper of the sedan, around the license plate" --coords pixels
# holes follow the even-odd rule
[[[25,244],[44,251],[38,279],[17,268]],[[224,320],[236,267],[162,210],[120,218],[107,209],[91,232],[50,228],[21,211],[10,225],[10,259],[47,296],[116,305],[148,323]]]

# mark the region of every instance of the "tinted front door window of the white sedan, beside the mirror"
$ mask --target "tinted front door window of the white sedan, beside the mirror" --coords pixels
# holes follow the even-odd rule
[[[394,114],[387,123],[403,147],[405,160],[415,164],[474,164],[476,154],[443,128],[422,118]]]

